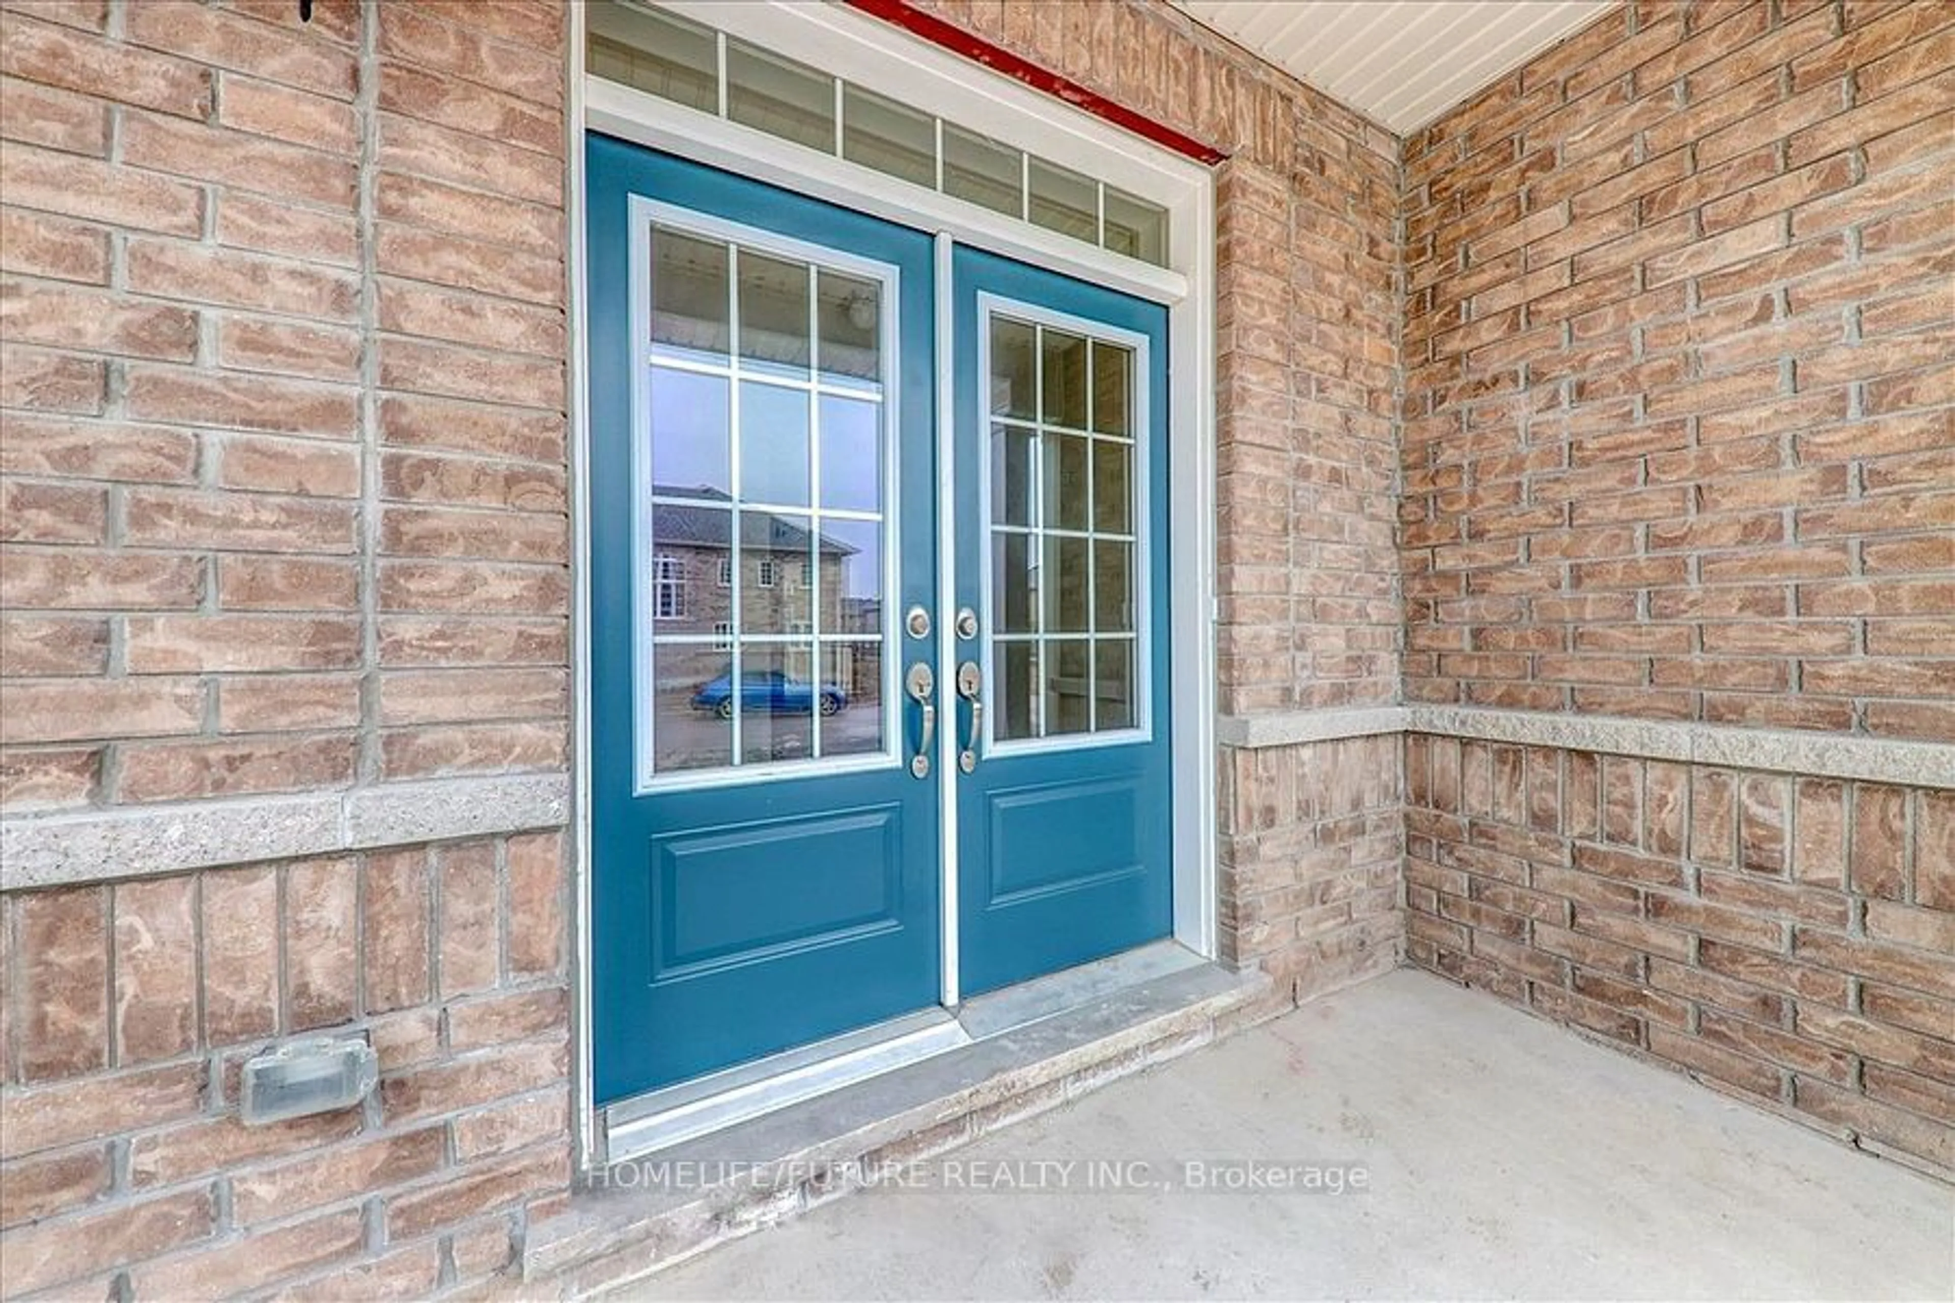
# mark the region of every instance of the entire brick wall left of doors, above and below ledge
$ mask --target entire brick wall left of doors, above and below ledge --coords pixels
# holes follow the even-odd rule
[[[561,774],[561,4],[4,10],[0,805]],[[422,1295],[569,1188],[559,832],[235,858],[0,897],[0,1293]],[[242,1127],[309,1031],[377,1096]]]

